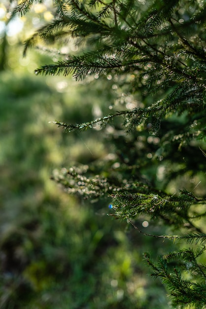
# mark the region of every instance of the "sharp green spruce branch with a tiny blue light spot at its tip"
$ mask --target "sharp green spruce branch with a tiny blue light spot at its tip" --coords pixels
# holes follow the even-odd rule
[[[118,217],[128,220],[128,218],[147,214],[151,218],[162,219],[168,225],[184,227],[191,232],[203,234],[202,230],[193,224],[189,214],[191,204],[198,204],[200,201],[188,201],[183,199],[181,195],[161,197],[158,194],[127,191],[110,196],[115,214]]]

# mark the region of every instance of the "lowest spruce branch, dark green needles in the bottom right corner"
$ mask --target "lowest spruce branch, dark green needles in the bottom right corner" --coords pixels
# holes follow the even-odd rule
[[[196,252],[190,248],[174,251],[158,262],[145,256],[152,270],[151,276],[161,277],[163,283],[169,286],[174,307],[180,305],[180,308],[185,308],[190,304],[193,308],[206,308],[206,267],[197,263],[205,249],[204,246]],[[187,279],[182,278],[182,270],[186,272]]]

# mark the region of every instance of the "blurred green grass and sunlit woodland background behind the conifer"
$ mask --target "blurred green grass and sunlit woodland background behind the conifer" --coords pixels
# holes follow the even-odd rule
[[[23,42],[52,18],[52,9],[46,1],[9,21],[12,5],[0,3],[0,309],[169,308],[143,252],[164,254],[171,242],[108,216],[109,198],[82,202],[51,180],[58,169],[112,155],[98,126],[66,134],[52,121],[110,113],[117,85],[111,76],[84,83],[36,77],[34,69],[55,61],[55,53],[50,59],[33,49],[23,58]],[[154,232],[144,221],[140,227]]]

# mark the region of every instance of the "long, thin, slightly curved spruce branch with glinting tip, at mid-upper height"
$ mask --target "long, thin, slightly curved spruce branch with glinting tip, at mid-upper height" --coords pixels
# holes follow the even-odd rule
[[[64,62],[61,62],[63,65]],[[72,72],[73,68],[67,66],[68,63],[65,63],[65,67],[59,67],[59,71],[65,70],[65,74],[69,74]],[[91,69],[91,68],[90,68]],[[46,66],[44,66],[43,70],[46,70]],[[52,68],[47,68],[49,74],[54,74],[56,72],[57,68],[54,68],[54,72],[52,71]],[[39,74],[39,71],[36,71],[36,74]],[[46,73],[47,74],[47,73]],[[187,102],[188,99],[191,98],[197,98],[197,95],[199,94],[199,89],[190,89],[190,85],[188,83],[185,83],[185,86],[178,86],[176,87],[165,99],[154,103],[152,106],[142,109],[142,108],[135,108],[130,111],[118,111],[116,114],[109,114],[107,116],[104,116],[102,118],[98,118],[95,120],[91,120],[86,123],[81,124],[68,124],[63,123],[60,121],[55,121],[54,123],[58,126],[62,126],[66,132],[71,132],[75,130],[84,131],[87,128],[91,128],[93,124],[101,122],[102,125],[106,125],[109,121],[112,121],[117,116],[124,116],[125,118],[125,128],[127,134],[131,133],[135,127],[137,127],[139,124],[144,123],[146,119],[153,118],[152,127],[150,128],[150,133],[156,134],[158,130],[160,129],[161,120],[165,118],[166,115],[168,115],[170,112],[175,111],[179,107],[180,104],[182,104],[184,101]],[[187,137],[188,134],[185,135]],[[183,194],[184,192],[182,192]],[[194,195],[187,193],[187,196],[194,197]],[[196,199],[197,201],[201,201]],[[204,200],[204,199],[203,199]]]

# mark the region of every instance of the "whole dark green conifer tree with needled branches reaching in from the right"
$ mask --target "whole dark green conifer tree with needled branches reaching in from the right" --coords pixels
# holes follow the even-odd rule
[[[21,1],[14,14],[27,13],[33,2]],[[58,49],[59,61],[35,74],[107,77],[116,90],[114,113],[80,124],[54,122],[66,132],[101,125],[114,155],[53,178],[84,199],[109,196],[112,215],[138,232],[184,244],[157,262],[148,253],[145,259],[151,275],[168,287],[174,308],[206,308],[206,192],[193,190],[200,178],[204,183],[206,166],[206,1],[53,2],[54,19],[25,42],[24,54],[36,45],[45,50],[44,44],[48,53],[52,44],[60,50],[73,44],[76,51]],[[172,193],[179,178],[193,188],[185,184]],[[142,215],[170,233],[142,232]]]

